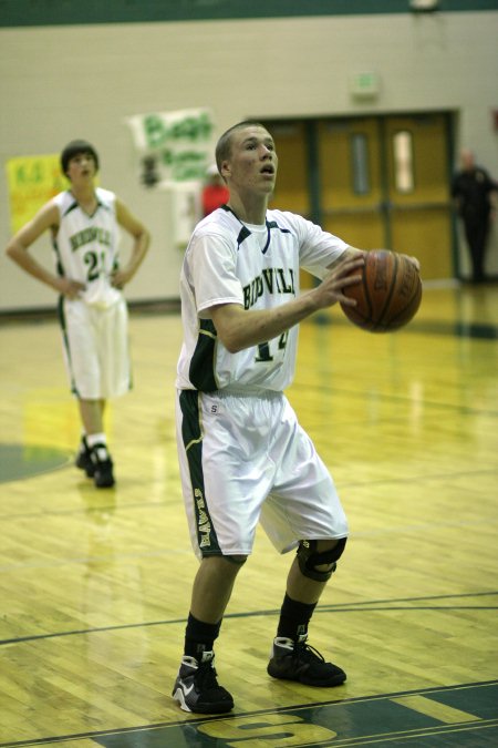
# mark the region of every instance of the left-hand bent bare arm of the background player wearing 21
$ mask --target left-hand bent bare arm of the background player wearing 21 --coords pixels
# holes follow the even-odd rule
[[[55,228],[59,225],[59,209],[52,202],[46,203],[29,221],[7,245],[7,255],[13,259],[23,270],[38,280],[46,284],[54,290],[74,298],[80,290],[84,289],[83,284],[70,278],[63,278],[46,269],[29,252],[30,246],[49,228]]]

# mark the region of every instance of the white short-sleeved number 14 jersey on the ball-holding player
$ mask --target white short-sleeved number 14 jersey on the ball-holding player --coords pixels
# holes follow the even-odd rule
[[[267,211],[262,226],[243,224],[226,207],[195,228],[180,274],[184,345],[176,385],[212,391],[284,390],[295,368],[298,326],[230,353],[217,338],[209,308],[238,304],[272,309],[299,295],[299,270],[317,277],[347,245],[302,216]]]

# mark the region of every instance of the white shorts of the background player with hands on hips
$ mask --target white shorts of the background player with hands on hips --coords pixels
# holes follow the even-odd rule
[[[124,298],[108,308],[63,298],[60,317],[72,391],[83,400],[105,400],[127,392],[132,370]]]

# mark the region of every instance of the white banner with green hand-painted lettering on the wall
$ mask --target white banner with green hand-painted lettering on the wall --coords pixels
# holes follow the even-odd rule
[[[212,114],[208,109],[154,112],[126,117],[142,160],[146,186],[203,180],[214,158]]]

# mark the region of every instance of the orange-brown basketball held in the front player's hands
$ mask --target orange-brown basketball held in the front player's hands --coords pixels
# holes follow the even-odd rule
[[[421,276],[407,257],[387,249],[372,249],[363,267],[361,283],[347,286],[344,296],[356,300],[355,307],[341,304],[347,319],[370,332],[392,332],[407,325],[422,300]]]

